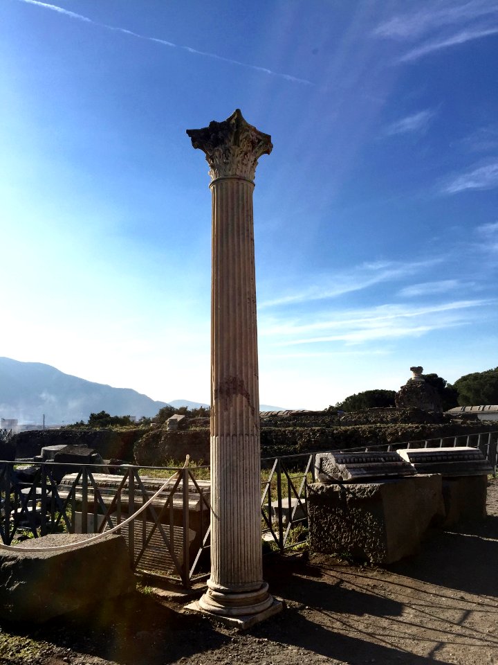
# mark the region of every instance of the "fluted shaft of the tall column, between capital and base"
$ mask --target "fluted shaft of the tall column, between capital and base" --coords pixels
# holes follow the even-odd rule
[[[262,582],[253,188],[211,185],[211,582],[241,590]]]

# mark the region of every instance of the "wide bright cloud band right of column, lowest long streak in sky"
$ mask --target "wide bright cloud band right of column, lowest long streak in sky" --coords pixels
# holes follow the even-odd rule
[[[296,320],[262,319],[262,341],[273,346],[344,342],[362,344],[378,339],[420,337],[432,330],[464,326],[474,321],[474,309],[498,301],[461,300],[436,305],[380,305],[363,310],[334,311],[317,315],[320,320],[301,323]],[[273,340],[273,342],[272,342]]]

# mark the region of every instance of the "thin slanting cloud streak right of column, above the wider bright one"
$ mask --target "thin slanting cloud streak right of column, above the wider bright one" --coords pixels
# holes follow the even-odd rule
[[[354,291],[361,291],[382,282],[404,278],[421,272],[437,263],[443,258],[431,258],[412,263],[396,261],[378,261],[377,263],[364,263],[350,272],[333,273],[315,276],[314,282],[302,290],[282,294],[276,298],[262,301],[260,309],[275,305],[288,305],[308,301],[335,298]]]

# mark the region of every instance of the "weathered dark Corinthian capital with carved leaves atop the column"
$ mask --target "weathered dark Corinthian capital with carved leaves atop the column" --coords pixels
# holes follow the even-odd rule
[[[194,148],[205,152],[212,180],[236,177],[252,181],[259,157],[273,148],[271,137],[247,123],[239,109],[221,123],[212,121],[187,134]]]

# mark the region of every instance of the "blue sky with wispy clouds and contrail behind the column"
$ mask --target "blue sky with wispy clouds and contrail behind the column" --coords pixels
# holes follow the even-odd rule
[[[498,2],[0,2],[0,355],[209,402],[208,165],[256,172],[260,399],[497,362]]]

